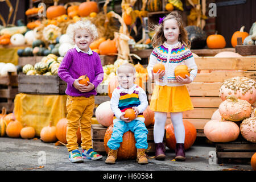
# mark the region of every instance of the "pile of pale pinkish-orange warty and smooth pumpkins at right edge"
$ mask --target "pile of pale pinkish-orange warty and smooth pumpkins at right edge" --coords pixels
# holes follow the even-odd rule
[[[204,126],[204,134],[212,142],[232,142],[242,135],[256,143],[256,81],[233,77],[221,84],[221,102],[212,119]]]

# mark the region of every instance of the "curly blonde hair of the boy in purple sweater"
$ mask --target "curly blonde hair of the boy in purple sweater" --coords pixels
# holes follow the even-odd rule
[[[69,38],[71,38],[72,42],[74,43],[74,39],[75,39],[75,31],[77,29],[84,29],[86,31],[88,31],[88,33],[92,36],[92,40],[96,40],[98,37],[98,31],[96,26],[91,23],[89,20],[79,20],[76,23],[72,23],[69,24],[66,34],[68,34]]]

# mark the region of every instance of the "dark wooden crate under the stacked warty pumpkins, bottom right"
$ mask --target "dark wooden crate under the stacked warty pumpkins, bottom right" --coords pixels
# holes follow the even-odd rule
[[[216,143],[217,163],[250,163],[256,152],[256,143],[245,140],[242,135],[234,142]]]

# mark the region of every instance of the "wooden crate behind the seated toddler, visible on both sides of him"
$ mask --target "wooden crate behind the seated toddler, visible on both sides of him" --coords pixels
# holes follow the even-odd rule
[[[93,149],[97,152],[105,152],[104,137],[107,129],[107,127],[102,125],[92,125],[92,144]],[[148,128],[147,142],[148,147],[150,147],[148,152],[155,152],[153,127]]]

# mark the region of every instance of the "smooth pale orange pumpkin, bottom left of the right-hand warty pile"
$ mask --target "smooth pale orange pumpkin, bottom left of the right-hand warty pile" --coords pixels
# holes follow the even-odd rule
[[[232,121],[210,120],[204,126],[204,134],[212,142],[232,142],[238,138],[240,129]]]

